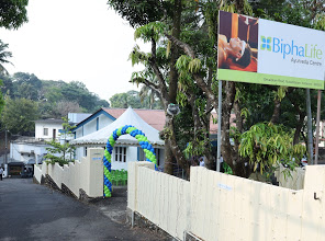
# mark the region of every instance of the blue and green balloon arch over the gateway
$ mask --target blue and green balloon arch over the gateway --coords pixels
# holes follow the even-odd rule
[[[113,131],[113,134],[110,136],[107,148],[104,151],[103,157],[103,163],[104,163],[104,197],[111,197],[112,196],[112,175],[111,175],[111,158],[112,158],[112,151],[115,145],[115,141],[119,139],[120,136],[130,134],[135,139],[137,139],[139,146],[144,150],[146,154],[146,160],[154,162],[155,167],[157,168],[157,159],[155,154],[154,147],[149,144],[147,137],[143,131],[135,128],[134,126],[126,125],[123,127],[120,127]]]

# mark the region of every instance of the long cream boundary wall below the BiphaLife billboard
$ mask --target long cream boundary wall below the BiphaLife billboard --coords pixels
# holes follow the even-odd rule
[[[128,167],[127,207],[180,240],[325,240],[325,167],[307,167],[300,191],[200,167],[191,182],[148,162]]]

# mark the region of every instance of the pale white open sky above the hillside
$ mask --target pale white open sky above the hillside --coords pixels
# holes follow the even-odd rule
[[[34,73],[41,80],[80,81],[109,101],[115,93],[139,90],[130,83],[128,55],[134,30],[107,0],[30,0],[29,22],[15,31],[0,28],[12,53],[8,71]]]

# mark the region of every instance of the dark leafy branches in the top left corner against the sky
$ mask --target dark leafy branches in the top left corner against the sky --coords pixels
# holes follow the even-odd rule
[[[29,0],[4,0],[0,2],[0,27],[18,28],[27,22]]]

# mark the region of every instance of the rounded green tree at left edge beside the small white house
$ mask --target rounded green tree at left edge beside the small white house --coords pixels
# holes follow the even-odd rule
[[[31,135],[34,131],[38,118],[37,104],[27,99],[5,99],[2,113],[2,125],[11,133],[19,135]]]

